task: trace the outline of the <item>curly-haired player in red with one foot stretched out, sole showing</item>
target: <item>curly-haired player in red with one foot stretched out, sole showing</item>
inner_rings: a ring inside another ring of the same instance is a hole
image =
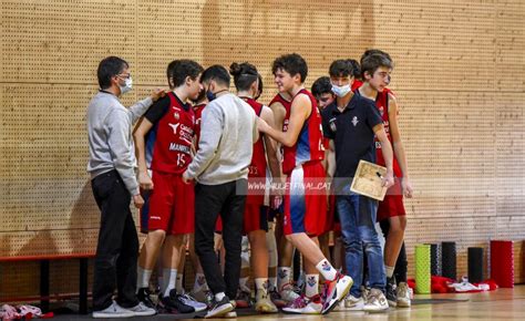
[[[326,173],[321,161],[321,116],[315,97],[305,90],[308,73],[306,61],[299,54],[286,54],[274,61],[272,72],[280,91],[287,91],[294,99],[290,107],[288,131],[274,130],[264,121],[259,130],[285,147],[282,172],[288,175],[285,195],[284,229],[287,239],[302,253],[307,272],[306,294],[302,302],[292,302],[284,311],[294,313],[328,313],[350,290],[352,279],[340,275],[325,258],[315,235],[315,224],[327,209],[325,186],[317,190],[309,182],[325,182]],[[306,184],[305,184],[306,183]],[[315,185],[315,184],[313,184]],[[310,229],[310,231],[309,231]],[[310,238],[312,237],[312,238]],[[325,298],[319,296],[319,275],[327,280]]]

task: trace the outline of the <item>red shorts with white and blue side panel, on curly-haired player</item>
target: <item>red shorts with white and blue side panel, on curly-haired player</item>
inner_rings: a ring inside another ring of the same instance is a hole
[[[319,236],[327,220],[326,172],[320,162],[294,168],[285,193],[285,235],[306,232]]]

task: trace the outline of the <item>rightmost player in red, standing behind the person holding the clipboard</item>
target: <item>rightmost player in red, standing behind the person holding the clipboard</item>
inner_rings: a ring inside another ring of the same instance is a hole
[[[391,307],[410,307],[410,293],[406,286],[406,251],[404,249],[404,230],[406,213],[403,195],[412,197],[412,184],[408,173],[401,133],[398,124],[398,102],[387,87],[393,62],[390,55],[379,50],[369,50],[361,58],[363,84],[359,92],[375,102],[383,120],[384,131],[393,146],[394,186],[390,187],[384,199],[379,203],[378,221],[385,236],[384,266],[387,271],[387,300]],[[377,164],[384,166],[381,144],[377,147]],[[395,275],[394,275],[395,272]],[[397,282],[399,287],[397,288]]]

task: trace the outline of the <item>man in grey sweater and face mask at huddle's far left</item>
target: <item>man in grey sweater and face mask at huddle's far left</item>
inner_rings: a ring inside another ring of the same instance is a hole
[[[93,281],[93,318],[152,315],[155,310],[136,298],[138,237],[130,210],[131,198],[141,208],[144,200],[136,180],[133,124],[164,95],[155,91],[130,108],[119,97],[132,89],[127,62],[109,56],[97,70],[101,90],[87,106],[90,159],[87,172],[96,205],[101,209],[101,227],[96,246]],[[112,300],[117,290],[116,302]]]

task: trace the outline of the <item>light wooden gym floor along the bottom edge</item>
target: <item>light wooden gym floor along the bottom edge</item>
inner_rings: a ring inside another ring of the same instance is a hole
[[[435,299],[432,304],[415,304],[410,309],[390,309],[388,313],[331,312],[327,315],[255,314],[239,317],[243,321],[257,320],[525,320],[525,286],[471,294],[416,296],[416,300]],[[449,299],[449,301],[445,301]],[[469,301],[450,301],[469,300]],[[239,313],[240,314],[240,313]],[[188,315],[189,317],[189,315]],[[183,320],[183,315],[155,315],[130,320]],[[191,317],[189,317],[191,318]],[[90,315],[56,315],[58,320],[93,320]],[[225,320],[225,319],[217,319]]]

